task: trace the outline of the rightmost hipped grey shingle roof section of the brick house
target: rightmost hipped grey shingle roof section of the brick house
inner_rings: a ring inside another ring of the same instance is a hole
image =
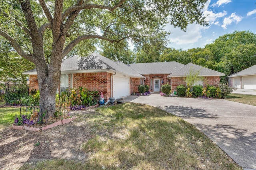
[[[187,65],[180,68],[179,70],[176,70],[169,76],[170,77],[184,77],[184,76],[190,74],[190,70],[192,70],[193,72],[199,71],[200,73],[198,76],[225,76],[224,73],[221,73],[221,72],[218,72],[215,70],[211,70],[209,68],[205,68],[205,67],[202,67],[202,66],[199,66],[196,64],[192,64],[192,63],[188,63]]]

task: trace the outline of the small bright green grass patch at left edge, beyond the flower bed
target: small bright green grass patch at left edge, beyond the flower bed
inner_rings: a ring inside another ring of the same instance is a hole
[[[0,107],[0,131],[14,123],[15,115],[20,114],[20,107]]]

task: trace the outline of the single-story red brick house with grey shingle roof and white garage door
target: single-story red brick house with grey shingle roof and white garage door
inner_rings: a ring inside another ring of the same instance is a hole
[[[196,64],[181,64],[175,61],[160,63],[124,64],[112,61],[97,53],[88,57],[73,56],[62,61],[58,93],[80,86],[103,93],[105,100],[120,98],[138,92],[138,85],[147,84],[150,92],[159,92],[163,84],[170,84],[172,90],[185,84],[190,70],[199,71],[204,77],[201,85],[218,85],[225,74]],[[36,69],[22,74],[29,75],[29,88],[38,89]]]

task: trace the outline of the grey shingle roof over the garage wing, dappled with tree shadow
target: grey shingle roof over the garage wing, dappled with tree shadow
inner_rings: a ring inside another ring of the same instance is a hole
[[[145,78],[138,72],[132,70],[132,68],[130,68],[126,64],[120,61],[118,62],[112,61],[97,53],[92,53],[88,57],[83,57],[83,58],[79,57],[78,55],[69,57],[64,61],[62,61],[61,68],[60,68],[61,71],[65,71],[65,72],[76,71],[76,70],[92,70],[93,72],[93,70],[101,70],[101,69],[117,71],[119,73],[126,74],[130,77]],[[25,74],[36,73],[36,69],[28,70],[24,73]]]

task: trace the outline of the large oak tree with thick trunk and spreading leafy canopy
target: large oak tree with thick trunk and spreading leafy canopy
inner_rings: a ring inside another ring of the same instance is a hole
[[[166,23],[183,30],[194,22],[207,25],[202,16],[206,1],[4,0],[0,2],[0,35],[35,64],[40,106],[54,107],[62,59],[74,48],[80,53],[94,50],[99,40],[129,40],[138,48],[152,40],[166,42]]]

